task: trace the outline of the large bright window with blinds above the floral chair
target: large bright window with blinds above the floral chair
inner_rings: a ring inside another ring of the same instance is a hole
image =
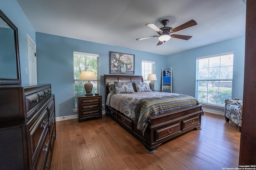
[[[233,52],[196,59],[196,99],[202,104],[224,106],[232,98]]]

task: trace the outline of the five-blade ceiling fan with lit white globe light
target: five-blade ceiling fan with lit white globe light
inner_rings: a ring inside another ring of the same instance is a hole
[[[172,29],[172,27],[166,27],[166,25],[168,23],[169,23],[169,20],[161,21],[161,24],[164,25],[164,27],[162,27],[162,28],[158,28],[154,23],[147,23],[146,25],[148,27],[156,30],[158,35],[153,35],[153,36],[150,36],[150,37],[137,38],[136,40],[148,39],[148,38],[151,38],[151,37],[158,37],[159,42],[157,43],[157,45],[161,45],[162,43],[165,43],[171,37],[179,38],[179,39],[184,39],[184,40],[189,40],[192,36],[178,35],[178,34],[171,34],[171,33],[174,33],[174,32],[180,31],[182,29],[185,29],[185,28],[197,25],[196,21],[190,20],[190,21],[188,21],[188,22],[186,22],[186,23],[184,23],[184,24],[182,24],[182,25]]]

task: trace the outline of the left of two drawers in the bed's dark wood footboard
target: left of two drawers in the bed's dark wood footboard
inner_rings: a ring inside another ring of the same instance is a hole
[[[156,141],[180,131],[180,123],[156,130]]]

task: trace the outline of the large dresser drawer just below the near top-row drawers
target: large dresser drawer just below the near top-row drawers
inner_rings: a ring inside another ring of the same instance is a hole
[[[39,119],[30,127],[30,143],[31,143],[31,152],[32,160],[34,161],[37,150],[39,149],[40,140],[43,138],[44,131],[48,129],[48,111],[44,110]]]

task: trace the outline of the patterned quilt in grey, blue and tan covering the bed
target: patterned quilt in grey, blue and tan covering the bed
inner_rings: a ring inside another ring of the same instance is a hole
[[[166,111],[194,106],[199,102],[192,96],[165,92],[135,92],[108,94],[106,105],[124,113],[137,123],[137,129],[144,134],[148,116]]]

